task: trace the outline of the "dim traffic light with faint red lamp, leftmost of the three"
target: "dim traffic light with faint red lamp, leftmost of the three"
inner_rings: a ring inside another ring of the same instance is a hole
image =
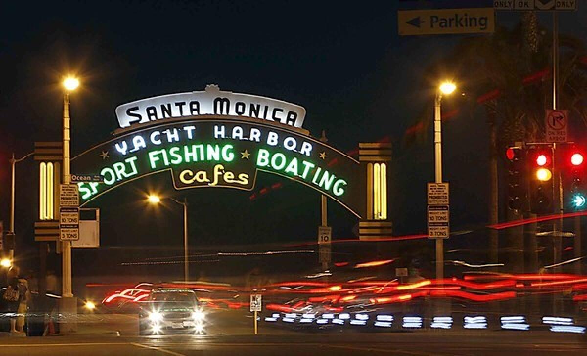
[[[508,208],[522,212],[528,208],[525,153],[522,147],[508,147],[505,151],[505,157],[507,158]]]

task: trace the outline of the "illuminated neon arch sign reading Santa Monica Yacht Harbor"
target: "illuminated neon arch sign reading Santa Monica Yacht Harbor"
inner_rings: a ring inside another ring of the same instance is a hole
[[[76,173],[104,178],[79,183],[82,205],[158,172],[170,172],[176,189],[250,191],[261,171],[300,182],[365,216],[363,167],[309,136],[301,128],[300,106],[208,86],[123,104],[117,116],[121,128],[112,139],[72,160]]]

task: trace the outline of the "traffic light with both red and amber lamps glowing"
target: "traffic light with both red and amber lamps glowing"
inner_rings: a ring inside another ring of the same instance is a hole
[[[535,214],[553,212],[553,153],[552,147],[535,146],[527,151],[530,211]]]

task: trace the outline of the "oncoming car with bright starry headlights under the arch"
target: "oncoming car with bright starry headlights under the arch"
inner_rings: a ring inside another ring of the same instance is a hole
[[[139,334],[205,334],[205,313],[191,289],[155,288],[139,311]]]

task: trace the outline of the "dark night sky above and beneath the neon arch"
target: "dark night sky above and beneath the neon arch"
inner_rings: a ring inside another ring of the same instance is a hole
[[[387,3],[387,4],[384,4]],[[61,140],[62,75],[75,73],[72,154],[111,137],[116,106],[167,93],[221,90],[274,97],[307,110],[304,127],[350,151],[389,137],[390,215],[396,235],[425,229],[426,182],[433,180],[431,135],[402,145],[402,136],[433,105],[436,78],[423,69],[463,36],[397,35],[399,8],[467,7],[474,1],[51,1],[0,5],[0,219],[9,219],[8,158],[34,141]],[[478,1],[491,6],[491,1]],[[579,4],[582,5],[582,4]],[[587,6],[562,15],[561,32],[585,38]],[[519,13],[497,14],[511,26]],[[549,25],[548,15],[539,19]],[[568,19],[568,20],[567,20]],[[474,73],[471,73],[474,75]],[[466,84],[466,79],[456,79]],[[456,105],[447,103],[447,105]],[[481,111],[444,128],[444,176],[451,183],[454,229],[487,221],[487,125]],[[17,165],[16,232],[33,240],[36,187],[32,160]],[[75,172],[75,165],[72,171]],[[261,199],[234,189],[176,192],[168,174],[141,179],[96,199],[103,246],[181,246],[181,207],[153,209],[147,191],[190,202],[193,244],[248,245],[312,241],[319,194],[273,175],[257,189],[285,187]],[[336,238],[353,238],[356,219],[329,204]]]

